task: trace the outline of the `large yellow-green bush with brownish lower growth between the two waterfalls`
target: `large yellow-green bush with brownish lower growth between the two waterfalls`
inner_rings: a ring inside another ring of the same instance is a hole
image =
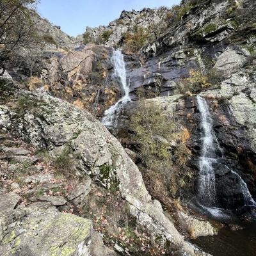
[[[184,175],[182,170],[191,155],[186,147],[188,130],[178,132],[177,125],[155,104],[140,103],[129,122],[131,139],[138,143],[138,163],[146,184],[157,195],[176,196],[179,177]],[[177,141],[175,150],[170,141]]]

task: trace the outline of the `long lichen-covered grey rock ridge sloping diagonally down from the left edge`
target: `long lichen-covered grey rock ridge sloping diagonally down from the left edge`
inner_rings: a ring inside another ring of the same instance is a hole
[[[68,172],[90,175],[106,188],[118,186],[129,203],[131,214],[152,236],[169,241],[179,255],[201,255],[184,241],[173,223],[164,216],[161,204],[151,199],[141,173],[124,148],[90,113],[53,98],[47,92],[22,91],[12,81],[1,81],[1,95],[1,129],[15,132],[36,148],[50,150],[52,157],[60,156],[68,148],[68,156],[74,159],[74,166],[70,166]],[[86,239],[83,237],[82,240]],[[15,242],[9,239],[7,243]],[[25,243],[20,248],[22,253],[26,248],[23,246]],[[65,248],[61,252],[63,250]]]

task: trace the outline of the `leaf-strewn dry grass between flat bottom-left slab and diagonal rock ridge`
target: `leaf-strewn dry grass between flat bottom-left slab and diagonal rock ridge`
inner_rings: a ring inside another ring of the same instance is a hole
[[[81,215],[93,221],[93,228],[104,235],[104,244],[118,244],[131,255],[163,254],[163,246],[153,243],[147,230],[140,227],[119,191],[109,193],[94,186],[85,200]]]

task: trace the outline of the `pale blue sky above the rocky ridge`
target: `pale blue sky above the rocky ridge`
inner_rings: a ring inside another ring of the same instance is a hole
[[[40,0],[39,14],[68,35],[84,33],[86,26],[108,25],[122,10],[172,6],[180,0]]]

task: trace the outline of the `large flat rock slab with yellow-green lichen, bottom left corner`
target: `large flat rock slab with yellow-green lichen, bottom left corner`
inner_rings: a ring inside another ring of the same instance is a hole
[[[10,206],[6,202],[10,202]],[[13,209],[17,197],[0,198],[0,252],[3,256],[89,256],[92,222],[54,207]],[[8,214],[5,208],[13,209]]]

